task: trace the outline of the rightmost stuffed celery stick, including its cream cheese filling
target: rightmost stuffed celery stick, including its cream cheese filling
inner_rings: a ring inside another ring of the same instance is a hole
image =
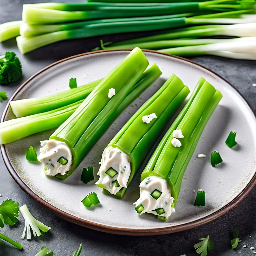
[[[201,78],[141,175],[140,198],[134,203],[166,221],[177,203],[182,179],[202,131],[217,107],[221,93]]]

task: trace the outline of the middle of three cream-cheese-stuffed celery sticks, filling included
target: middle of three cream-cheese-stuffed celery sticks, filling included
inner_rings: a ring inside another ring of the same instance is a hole
[[[146,154],[188,93],[188,87],[172,74],[105,148],[97,186],[119,199],[124,196]]]

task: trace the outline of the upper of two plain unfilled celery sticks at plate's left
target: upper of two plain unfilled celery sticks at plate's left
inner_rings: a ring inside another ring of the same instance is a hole
[[[34,115],[54,110],[85,99],[101,81],[102,79],[99,79],[77,88],[40,98],[10,101],[10,106],[16,117]]]

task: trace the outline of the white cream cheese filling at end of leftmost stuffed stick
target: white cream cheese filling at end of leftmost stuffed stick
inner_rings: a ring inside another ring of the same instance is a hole
[[[46,175],[55,176],[58,173],[60,173],[60,175],[64,175],[65,172],[71,169],[73,162],[72,153],[65,142],[57,141],[55,139],[40,142],[42,148],[40,148],[40,155],[37,159],[47,168],[44,170]],[[57,162],[60,157],[64,157],[68,160],[66,165]]]

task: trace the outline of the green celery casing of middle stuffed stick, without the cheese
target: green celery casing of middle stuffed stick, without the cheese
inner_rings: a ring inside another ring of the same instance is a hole
[[[188,93],[188,87],[184,86],[183,82],[172,74],[164,85],[138,109],[106,147],[118,147],[131,158],[131,174],[127,186]],[[148,124],[144,123],[142,117],[151,113],[155,113],[157,118]],[[102,187],[102,184],[97,183],[97,185]],[[103,191],[109,193],[106,189]],[[126,188],[123,187],[115,196],[121,199],[125,191]]]

